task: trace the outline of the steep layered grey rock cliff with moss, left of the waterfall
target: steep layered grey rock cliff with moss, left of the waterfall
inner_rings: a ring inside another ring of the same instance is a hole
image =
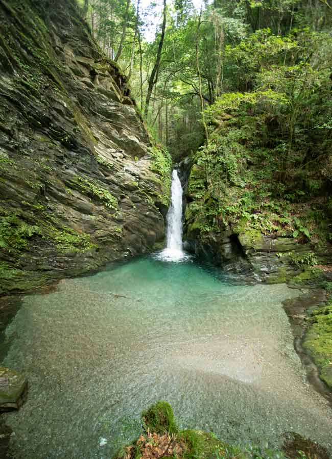
[[[0,0],[0,294],[163,238],[170,160],[74,0]]]

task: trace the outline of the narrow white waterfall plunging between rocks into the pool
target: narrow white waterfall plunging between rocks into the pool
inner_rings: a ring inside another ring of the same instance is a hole
[[[172,173],[172,200],[167,219],[167,248],[160,253],[164,260],[176,261],[185,258],[182,249],[182,186],[178,171]]]

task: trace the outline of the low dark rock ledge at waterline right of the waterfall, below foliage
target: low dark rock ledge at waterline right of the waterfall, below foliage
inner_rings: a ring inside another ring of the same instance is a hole
[[[305,272],[292,264],[290,253],[305,254],[312,251],[310,244],[298,244],[288,237],[265,236],[252,230],[233,234],[232,230],[207,233],[204,238],[189,235],[184,248],[203,260],[222,266],[226,271],[247,276],[248,280],[281,284],[316,286],[332,279],[329,272],[306,267]],[[318,260],[327,263],[332,257],[332,248],[325,246],[315,252]]]

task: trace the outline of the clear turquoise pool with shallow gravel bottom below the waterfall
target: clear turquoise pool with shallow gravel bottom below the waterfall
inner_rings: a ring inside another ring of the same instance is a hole
[[[4,364],[30,383],[5,419],[14,457],[110,457],[158,399],[183,427],[226,441],[276,445],[294,430],[331,452],[332,411],[306,382],[281,307],[294,296],[153,257],[26,296],[6,330]]]

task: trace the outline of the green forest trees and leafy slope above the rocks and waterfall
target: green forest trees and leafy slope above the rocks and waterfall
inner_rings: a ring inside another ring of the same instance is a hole
[[[235,224],[237,231],[330,240],[332,3],[143,6],[82,4],[94,37],[127,75],[150,132],[175,162],[190,155],[196,163],[189,228]]]

